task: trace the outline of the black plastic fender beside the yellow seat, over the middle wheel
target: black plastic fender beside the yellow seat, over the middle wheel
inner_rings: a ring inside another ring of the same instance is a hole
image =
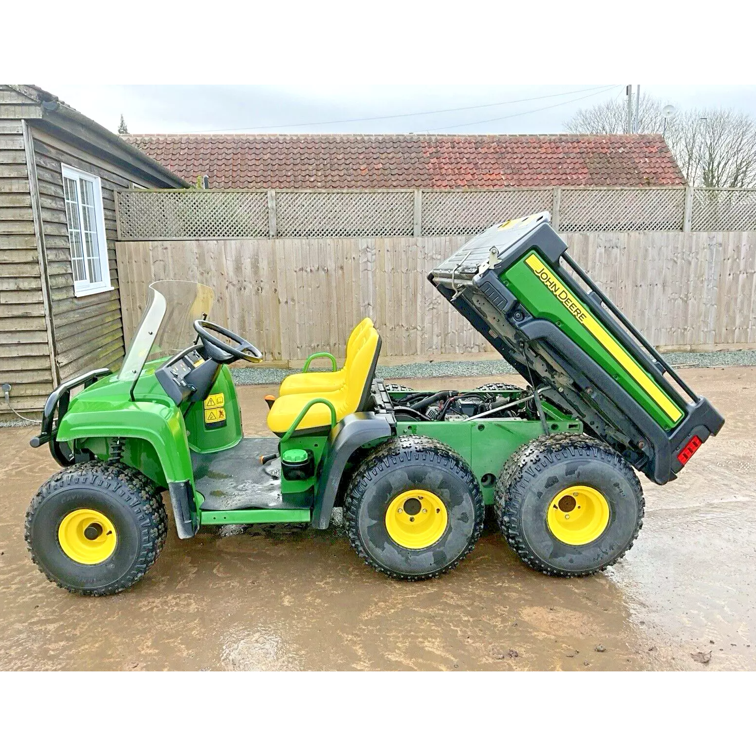
[[[373,412],[355,412],[333,427],[328,438],[329,451],[321,468],[318,493],[315,495],[311,527],[318,530],[328,527],[349,457],[361,446],[393,435],[390,417]]]

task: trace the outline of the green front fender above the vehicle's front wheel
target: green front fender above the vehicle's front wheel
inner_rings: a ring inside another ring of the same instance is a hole
[[[60,421],[57,440],[79,440],[95,453],[107,452],[107,449],[96,448],[95,439],[98,438],[141,439],[147,442],[147,448],[144,444],[130,444],[125,450],[124,461],[132,463],[160,485],[190,481],[194,487],[184,418],[175,404],[88,401],[82,392],[72,401],[71,410]],[[151,460],[154,456],[156,460]],[[151,461],[154,463],[151,464]]]

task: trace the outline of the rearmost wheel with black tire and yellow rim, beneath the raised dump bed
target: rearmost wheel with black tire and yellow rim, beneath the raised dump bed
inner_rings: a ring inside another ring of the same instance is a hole
[[[522,445],[494,493],[499,528],[519,558],[564,578],[620,559],[643,526],[644,507],[634,469],[614,449],[569,433]]]

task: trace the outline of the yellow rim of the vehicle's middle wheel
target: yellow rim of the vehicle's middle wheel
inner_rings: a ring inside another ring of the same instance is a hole
[[[449,521],[444,502],[430,491],[404,491],[386,510],[386,530],[405,549],[426,549],[442,537]]]

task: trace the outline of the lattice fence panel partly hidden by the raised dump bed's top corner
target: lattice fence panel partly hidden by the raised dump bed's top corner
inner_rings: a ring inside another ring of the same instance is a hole
[[[423,191],[422,235],[478,234],[497,221],[551,210],[551,189]]]

